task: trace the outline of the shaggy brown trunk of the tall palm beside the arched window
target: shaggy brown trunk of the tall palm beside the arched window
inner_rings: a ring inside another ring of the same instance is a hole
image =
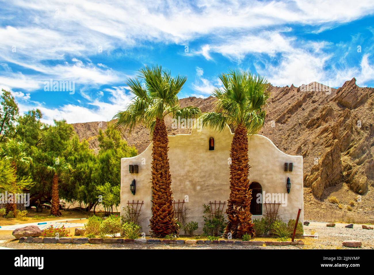
[[[224,236],[231,232],[232,238],[254,235],[250,205],[252,190],[249,190],[249,158],[247,129],[239,124],[231,143],[230,197],[227,201],[227,224]]]

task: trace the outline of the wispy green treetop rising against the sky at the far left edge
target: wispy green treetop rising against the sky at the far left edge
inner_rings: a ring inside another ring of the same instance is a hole
[[[1,109],[0,109],[0,142],[7,137],[11,137],[14,132],[14,123],[18,116],[18,105],[14,97],[8,91],[1,89]]]

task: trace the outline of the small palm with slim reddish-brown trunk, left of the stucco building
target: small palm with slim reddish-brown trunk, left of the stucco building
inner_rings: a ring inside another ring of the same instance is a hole
[[[52,180],[52,204],[50,214],[53,216],[61,216],[60,199],[58,197],[58,178],[65,172],[72,171],[70,163],[65,161],[64,157],[52,158],[53,165],[47,165],[45,168],[47,172],[53,175]]]

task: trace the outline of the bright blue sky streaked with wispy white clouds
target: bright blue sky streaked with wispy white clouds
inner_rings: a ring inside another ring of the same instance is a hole
[[[186,75],[180,98],[208,97],[230,68],[276,86],[374,87],[373,48],[373,0],[0,0],[0,88],[47,123],[110,120],[145,64]],[[45,91],[50,79],[74,94]]]

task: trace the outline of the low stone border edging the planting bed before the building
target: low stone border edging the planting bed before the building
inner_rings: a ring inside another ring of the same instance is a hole
[[[231,241],[231,240],[171,240],[171,239],[122,239],[122,238],[41,238],[41,237],[21,237],[21,243],[34,244],[183,244],[183,245],[201,245],[201,244],[241,244],[254,246],[283,246],[283,245],[304,245],[299,240],[295,242],[286,241]]]

